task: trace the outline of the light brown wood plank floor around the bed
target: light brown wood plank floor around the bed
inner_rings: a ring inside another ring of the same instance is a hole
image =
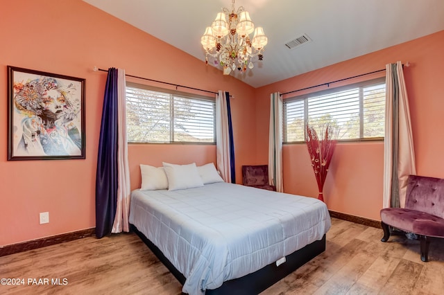
[[[429,262],[422,262],[418,240],[392,236],[383,243],[382,235],[382,229],[332,218],[325,252],[262,294],[444,294],[444,239],[432,240]],[[0,257],[0,278],[24,279],[24,285],[0,285],[0,294],[181,293],[135,233]],[[48,285],[32,285],[45,284],[44,278]]]

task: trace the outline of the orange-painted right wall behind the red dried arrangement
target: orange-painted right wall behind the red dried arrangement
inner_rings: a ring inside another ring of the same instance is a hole
[[[409,67],[404,67],[404,76],[409,94],[417,173],[444,177],[444,157],[441,156],[444,136],[440,127],[444,124],[443,48],[444,31],[441,31],[256,89],[258,161],[266,161],[268,157],[268,136],[263,130],[268,128],[264,118],[268,117],[270,109],[270,93],[285,93],[385,69],[386,64],[401,60],[403,63],[410,62]],[[331,84],[330,88],[342,84]],[[284,145],[283,156],[284,190],[317,197],[316,181],[305,144]],[[333,211],[380,220],[383,167],[383,142],[339,143],[325,184],[327,206]]]

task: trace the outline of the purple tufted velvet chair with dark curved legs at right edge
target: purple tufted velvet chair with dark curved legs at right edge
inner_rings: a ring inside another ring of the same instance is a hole
[[[444,179],[410,175],[407,183],[405,208],[381,210],[382,229],[387,242],[393,226],[420,238],[420,257],[428,260],[432,237],[444,238]]]

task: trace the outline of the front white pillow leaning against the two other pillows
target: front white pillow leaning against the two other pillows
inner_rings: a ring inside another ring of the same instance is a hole
[[[168,190],[183,190],[203,186],[196,163],[175,165],[163,162],[163,164],[168,178]]]

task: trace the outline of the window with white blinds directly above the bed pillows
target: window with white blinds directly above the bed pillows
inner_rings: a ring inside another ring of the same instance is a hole
[[[131,143],[215,143],[215,102],[144,85],[126,85],[126,129]]]

